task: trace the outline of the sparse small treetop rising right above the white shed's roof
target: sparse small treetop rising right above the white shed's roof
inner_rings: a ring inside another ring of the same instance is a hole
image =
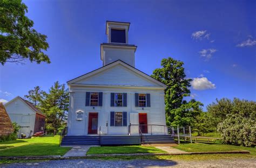
[[[29,90],[29,94],[25,95],[25,99],[32,102],[35,106],[38,105],[38,103],[42,102],[43,95],[45,95],[45,92],[41,90],[39,86],[34,87],[34,89]]]

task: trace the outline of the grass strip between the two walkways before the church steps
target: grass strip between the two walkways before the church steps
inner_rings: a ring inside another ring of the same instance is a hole
[[[112,153],[166,153],[151,146],[102,146],[92,147],[87,155],[112,154]]]

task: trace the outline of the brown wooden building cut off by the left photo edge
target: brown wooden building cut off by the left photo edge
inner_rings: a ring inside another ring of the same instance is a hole
[[[3,103],[0,103],[0,136],[9,135],[14,132],[12,123]]]

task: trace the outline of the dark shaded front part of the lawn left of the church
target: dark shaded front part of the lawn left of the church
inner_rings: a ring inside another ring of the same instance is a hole
[[[33,143],[2,150],[0,156],[62,156],[70,149],[69,147],[59,147],[58,144],[54,143]]]

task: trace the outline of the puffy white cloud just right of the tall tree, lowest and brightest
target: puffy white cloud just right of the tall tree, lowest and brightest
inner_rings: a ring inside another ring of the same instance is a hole
[[[206,90],[206,89],[215,89],[215,84],[211,81],[208,81],[206,77],[194,78],[191,81],[191,86],[195,90]]]

